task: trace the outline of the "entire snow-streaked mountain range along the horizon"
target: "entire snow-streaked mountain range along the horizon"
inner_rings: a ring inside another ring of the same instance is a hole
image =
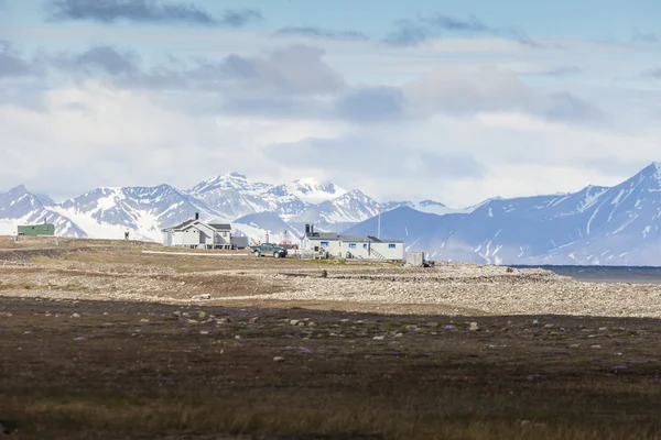
[[[615,187],[553,196],[495,198],[452,209],[438,201],[378,204],[358,189],[304,178],[270,185],[227,173],[188,190],[169,185],[97,188],[63,202],[24,186],[0,193],[0,233],[48,221],[61,235],[161,241],[161,229],[192,218],[231,222],[263,240],[317,230],[402,239],[436,261],[486,264],[661,265],[661,164]],[[275,235],[275,237],[273,237]]]

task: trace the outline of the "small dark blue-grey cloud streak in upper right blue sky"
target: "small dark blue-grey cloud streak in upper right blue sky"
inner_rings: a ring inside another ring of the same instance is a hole
[[[440,13],[419,16],[415,20],[398,20],[384,42],[392,45],[414,46],[436,35],[438,32],[463,34],[486,34],[517,41],[523,45],[538,47],[539,43],[530,38],[525,32],[517,28],[496,28],[485,24],[475,15],[468,20],[458,20]]]

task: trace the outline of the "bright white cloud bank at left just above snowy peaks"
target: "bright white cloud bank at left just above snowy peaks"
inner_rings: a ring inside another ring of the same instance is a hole
[[[316,121],[193,114],[160,105],[148,91],[98,82],[55,89],[45,111],[0,106],[3,143],[0,187],[24,183],[62,198],[97,186],[193,186],[209,176],[245,170],[278,179],[262,150],[280,142],[342,133]]]

